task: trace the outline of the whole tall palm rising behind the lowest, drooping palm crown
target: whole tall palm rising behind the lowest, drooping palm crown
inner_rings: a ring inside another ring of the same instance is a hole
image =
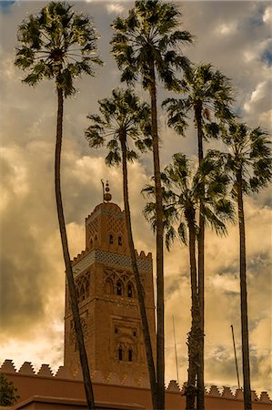
[[[197,131],[198,164],[204,159],[203,142],[208,138],[218,138],[221,122],[232,118],[229,106],[232,102],[232,88],[227,77],[210,64],[200,64],[186,70],[180,87],[184,97],[167,98],[163,106],[167,108],[168,125],[185,136],[188,116],[192,112]],[[205,190],[205,187],[203,187]],[[198,297],[201,315],[202,338],[197,371],[197,409],[204,410],[204,280],[205,280],[205,224],[203,206],[199,212],[198,235]]]

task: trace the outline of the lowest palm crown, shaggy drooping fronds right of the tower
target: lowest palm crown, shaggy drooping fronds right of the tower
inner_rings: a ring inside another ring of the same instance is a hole
[[[227,200],[228,177],[215,164],[205,159],[193,175],[190,161],[186,155],[177,153],[173,162],[162,172],[164,195],[164,226],[166,247],[170,248],[176,235],[186,243],[186,225],[193,222],[197,231],[196,211],[199,211],[200,200],[204,201],[204,217],[206,222],[217,233],[226,234],[225,222],[234,219],[234,209]],[[203,182],[205,192],[203,194]],[[144,194],[154,197],[153,186],[147,186]],[[146,204],[145,215],[156,229],[155,204]],[[177,224],[177,228],[176,228]]]

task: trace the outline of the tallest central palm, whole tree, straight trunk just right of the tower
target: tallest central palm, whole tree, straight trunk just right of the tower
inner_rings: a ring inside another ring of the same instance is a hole
[[[180,45],[191,43],[187,31],[177,30],[179,16],[176,5],[158,0],[138,0],[129,10],[127,18],[117,17],[112,27],[115,35],[111,41],[117,66],[123,70],[121,81],[135,84],[141,77],[143,87],[151,101],[151,135],[156,185],[156,409],[165,408],[165,345],[164,345],[164,255],[163,206],[160,182],[159,144],[157,131],[157,81],[167,89],[179,85],[176,70],[189,67],[189,62],[179,51]]]

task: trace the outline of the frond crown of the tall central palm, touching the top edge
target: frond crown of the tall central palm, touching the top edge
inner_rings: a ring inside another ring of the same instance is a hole
[[[117,17],[111,44],[122,81],[133,83],[138,74],[143,87],[150,86],[153,65],[168,89],[178,87],[175,69],[187,69],[189,61],[180,52],[181,44],[192,42],[187,31],[176,30],[180,13],[176,5],[157,0],[136,1],[127,18]]]

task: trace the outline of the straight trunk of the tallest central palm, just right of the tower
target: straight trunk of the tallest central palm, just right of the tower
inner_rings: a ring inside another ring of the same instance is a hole
[[[163,194],[160,179],[157,135],[156,76],[154,62],[150,66],[151,134],[156,191],[156,383],[157,410],[165,409],[165,285],[164,285],[164,226]]]

